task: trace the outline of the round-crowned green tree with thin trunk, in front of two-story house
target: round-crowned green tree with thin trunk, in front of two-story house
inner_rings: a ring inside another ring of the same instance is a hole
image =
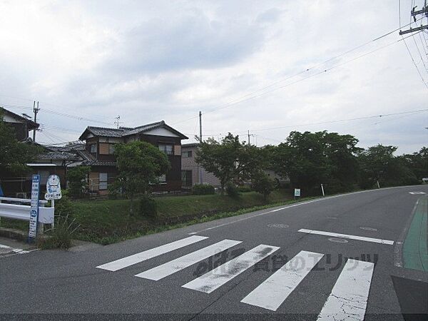
[[[151,184],[158,183],[159,176],[168,172],[170,163],[165,153],[143,141],[117,144],[114,155],[118,167],[114,185],[131,200],[132,214],[136,194],[148,193]]]

